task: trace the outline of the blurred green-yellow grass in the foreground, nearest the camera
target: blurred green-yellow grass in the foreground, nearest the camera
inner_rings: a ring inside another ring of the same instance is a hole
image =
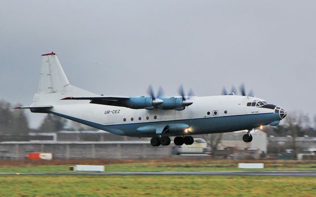
[[[1,197],[315,197],[313,177],[0,176]]]

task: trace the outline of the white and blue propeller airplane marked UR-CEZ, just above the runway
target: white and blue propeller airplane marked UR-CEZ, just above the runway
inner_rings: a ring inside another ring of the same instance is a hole
[[[191,145],[192,135],[248,130],[244,142],[251,142],[250,131],[261,126],[276,126],[287,112],[252,93],[235,95],[236,90],[220,96],[165,97],[160,89],[155,96],[104,96],[71,85],[55,53],[41,55],[40,87],[32,104],[17,109],[50,113],[117,135],[151,137],[152,146]]]

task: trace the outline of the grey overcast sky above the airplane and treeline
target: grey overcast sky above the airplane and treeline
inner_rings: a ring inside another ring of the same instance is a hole
[[[0,99],[29,105],[53,51],[72,85],[98,94],[183,84],[211,96],[244,83],[313,116],[315,36],[315,0],[1,1]],[[28,116],[37,127],[42,115]]]

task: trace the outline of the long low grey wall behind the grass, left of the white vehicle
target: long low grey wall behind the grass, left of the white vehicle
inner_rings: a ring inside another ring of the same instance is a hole
[[[55,159],[156,159],[169,157],[171,146],[149,142],[1,142],[0,160],[22,160],[29,153],[53,153]]]

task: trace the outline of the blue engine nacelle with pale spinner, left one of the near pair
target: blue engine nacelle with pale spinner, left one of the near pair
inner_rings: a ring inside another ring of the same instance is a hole
[[[163,100],[153,99],[152,97],[131,97],[123,102],[126,107],[132,109],[153,109],[163,103]]]

